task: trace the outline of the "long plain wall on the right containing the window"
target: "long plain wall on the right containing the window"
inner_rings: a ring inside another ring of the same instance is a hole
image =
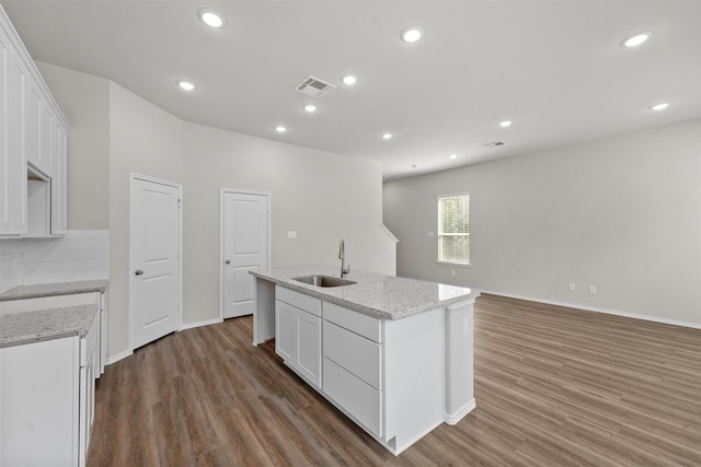
[[[472,265],[440,266],[436,197],[461,191]],[[400,276],[701,326],[701,120],[390,182],[384,223]]]

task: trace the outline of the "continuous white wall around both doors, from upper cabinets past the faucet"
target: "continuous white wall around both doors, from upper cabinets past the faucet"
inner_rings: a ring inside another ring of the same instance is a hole
[[[273,266],[336,264],[344,237],[353,268],[394,273],[378,166],[184,122],[107,80],[41,68],[71,124],[69,227],[110,231],[108,358],[129,350],[130,173],[183,185],[184,325],[219,318],[220,187],[272,192]]]

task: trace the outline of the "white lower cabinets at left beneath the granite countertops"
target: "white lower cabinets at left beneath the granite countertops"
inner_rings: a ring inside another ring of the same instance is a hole
[[[62,302],[95,305],[83,337],[65,337],[0,349],[0,466],[84,466],[101,372],[99,294]],[[61,303],[41,299],[3,302],[0,312]],[[60,308],[59,308],[60,310]],[[68,310],[68,308],[66,308]]]

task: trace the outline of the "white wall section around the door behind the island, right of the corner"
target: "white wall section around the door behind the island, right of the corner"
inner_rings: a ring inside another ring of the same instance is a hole
[[[186,322],[219,316],[221,187],[272,194],[274,267],[340,265],[344,238],[353,268],[394,273],[394,245],[380,230],[379,166],[194,124],[185,124],[184,144]]]

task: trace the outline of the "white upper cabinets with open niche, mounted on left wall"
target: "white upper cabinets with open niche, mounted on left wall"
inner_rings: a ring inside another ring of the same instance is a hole
[[[67,149],[68,121],[0,5],[0,238],[68,231]]]

